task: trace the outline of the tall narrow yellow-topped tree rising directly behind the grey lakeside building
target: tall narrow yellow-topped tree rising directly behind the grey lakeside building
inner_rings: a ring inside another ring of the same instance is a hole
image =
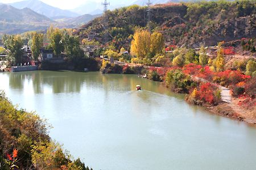
[[[51,46],[54,50],[54,54],[56,56],[60,56],[61,50],[63,50],[63,43],[62,43],[62,36],[63,34],[60,32],[59,28],[56,28],[52,33],[50,37]]]

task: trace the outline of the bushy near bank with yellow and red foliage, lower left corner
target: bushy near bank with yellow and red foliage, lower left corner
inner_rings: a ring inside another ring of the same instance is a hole
[[[45,118],[18,109],[2,90],[0,112],[1,169],[89,169],[49,137],[51,125]]]

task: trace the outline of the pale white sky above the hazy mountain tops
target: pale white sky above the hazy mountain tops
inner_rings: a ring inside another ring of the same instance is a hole
[[[19,2],[19,1],[22,1],[22,0],[0,0],[0,2],[2,3],[13,3],[13,2]],[[40,1],[51,6],[61,8],[63,10],[68,10],[68,9],[76,8],[81,4],[84,4],[86,0],[72,0],[72,1],[40,0]],[[90,1],[104,2],[104,0],[90,0]]]

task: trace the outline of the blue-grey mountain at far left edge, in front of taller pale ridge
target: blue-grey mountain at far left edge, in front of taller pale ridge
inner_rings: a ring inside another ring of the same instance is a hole
[[[10,5],[0,5],[0,20],[3,22],[55,22],[42,14],[38,14],[30,8],[17,9]]]

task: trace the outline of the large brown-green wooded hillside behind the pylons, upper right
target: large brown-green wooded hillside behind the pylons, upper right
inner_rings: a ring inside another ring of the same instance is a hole
[[[196,1],[166,3],[151,6],[152,30],[161,32],[166,46],[199,48],[217,45],[220,41],[236,41],[255,36],[255,3],[242,0]],[[145,27],[147,7],[137,5],[108,11],[109,41],[129,43],[136,27]],[[104,18],[96,18],[75,32],[80,39],[95,30],[97,41],[102,42]]]

